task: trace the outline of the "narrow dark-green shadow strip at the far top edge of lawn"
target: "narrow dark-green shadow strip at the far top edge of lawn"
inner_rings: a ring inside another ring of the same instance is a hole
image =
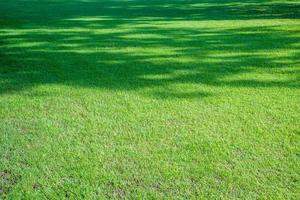
[[[15,0],[3,1],[0,5],[2,17],[12,17],[15,12],[28,24],[39,26],[90,16],[114,20],[142,17],[152,20],[299,19],[300,16],[300,4],[296,0],[285,3],[270,0]]]

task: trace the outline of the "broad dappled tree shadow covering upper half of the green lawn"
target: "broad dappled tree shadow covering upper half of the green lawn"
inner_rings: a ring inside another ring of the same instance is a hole
[[[18,2],[25,5],[21,15],[38,6],[41,12],[49,3],[42,1],[31,8],[31,1]],[[107,90],[156,88],[150,95],[160,98],[210,95],[170,91],[171,86],[184,84],[299,88],[297,30],[287,31],[280,23],[230,27],[226,21],[213,25],[201,21],[298,18],[294,9],[299,4],[279,9],[280,4],[266,2],[221,2],[54,1],[48,9],[64,5],[66,10],[48,12],[44,20],[49,24],[43,24],[36,13],[26,15],[25,21],[32,18],[31,22],[17,23],[14,28],[8,24],[1,30],[0,93],[43,84]],[[251,9],[246,5],[267,11],[247,14]]]

